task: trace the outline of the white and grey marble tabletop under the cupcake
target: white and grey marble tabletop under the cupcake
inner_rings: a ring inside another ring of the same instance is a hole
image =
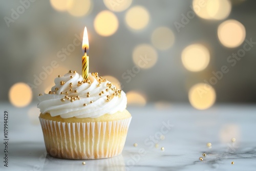
[[[217,104],[205,111],[189,104],[129,107],[133,119],[122,154],[86,161],[47,155],[35,106],[0,104],[0,170],[256,170],[256,105]],[[5,110],[8,167],[3,163]]]

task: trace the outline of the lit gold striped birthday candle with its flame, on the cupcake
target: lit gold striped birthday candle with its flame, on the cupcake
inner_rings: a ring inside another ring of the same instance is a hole
[[[89,56],[87,56],[87,52],[89,51],[89,41],[86,27],[84,27],[83,31],[82,50],[84,51],[84,55],[82,56],[82,77],[83,79],[86,79],[89,73]]]

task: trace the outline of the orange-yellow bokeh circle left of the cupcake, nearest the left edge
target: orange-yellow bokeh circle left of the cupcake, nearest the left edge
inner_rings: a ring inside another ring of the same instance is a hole
[[[24,107],[32,100],[32,90],[28,84],[17,82],[9,90],[9,100],[16,107]]]

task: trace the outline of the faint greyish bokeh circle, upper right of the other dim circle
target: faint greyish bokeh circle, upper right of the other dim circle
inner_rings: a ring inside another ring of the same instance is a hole
[[[152,44],[160,50],[166,50],[174,44],[175,36],[172,30],[167,27],[155,29],[151,36]]]

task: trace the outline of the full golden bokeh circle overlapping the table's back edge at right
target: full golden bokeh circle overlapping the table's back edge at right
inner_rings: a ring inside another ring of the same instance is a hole
[[[190,104],[198,109],[205,110],[215,103],[216,93],[214,88],[206,83],[198,83],[191,87],[188,92]]]

